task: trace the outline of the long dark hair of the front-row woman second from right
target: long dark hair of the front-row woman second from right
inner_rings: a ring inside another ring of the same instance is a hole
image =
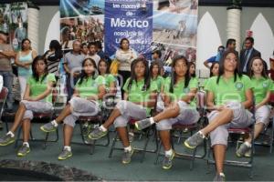
[[[186,74],[184,76],[184,88],[186,88],[189,84],[189,81],[191,79],[191,77],[189,76],[189,68],[188,68],[188,61],[187,59],[185,58],[185,56],[174,56],[174,59],[173,59],[173,63],[172,63],[172,67],[174,68],[175,64],[177,63],[177,61],[183,59],[186,66],[187,66],[187,71],[186,71]],[[172,73],[171,73],[171,82],[170,82],[170,87],[169,87],[169,92],[170,93],[174,93],[174,85],[176,84],[177,82],[177,76],[176,76],[176,73],[174,71],[174,69],[172,69]]]

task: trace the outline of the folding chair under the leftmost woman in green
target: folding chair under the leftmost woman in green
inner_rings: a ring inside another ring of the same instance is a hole
[[[53,109],[48,112],[48,113],[34,113],[34,118],[33,119],[39,119],[41,120],[42,118],[47,118],[47,120],[51,121],[53,120],[53,118],[55,117],[55,104],[56,104],[56,101],[57,101],[57,96],[58,96],[58,91],[54,88],[52,89],[52,104],[53,104]],[[15,144],[15,148],[18,146],[18,142],[21,140],[23,140],[22,138],[20,138],[21,136],[21,133],[22,133],[22,126],[19,126],[18,128],[18,131],[17,131],[17,136],[16,136],[16,144]],[[59,135],[58,135],[58,128],[56,130],[56,138],[53,139],[53,140],[48,140],[48,136],[49,136],[49,133],[46,133],[45,135],[45,138],[35,138],[32,134],[32,130],[30,129],[29,131],[29,135],[30,135],[30,141],[38,141],[38,142],[43,142],[43,149],[46,149],[47,148],[47,142],[58,142],[58,138],[59,138]]]

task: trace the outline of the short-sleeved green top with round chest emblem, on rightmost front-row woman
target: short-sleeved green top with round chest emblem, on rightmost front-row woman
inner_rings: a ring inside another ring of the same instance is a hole
[[[214,103],[216,106],[226,105],[229,101],[244,102],[247,100],[246,91],[252,88],[251,81],[248,76],[237,76],[234,82],[234,76],[228,80],[224,80],[220,76],[219,83],[216,84],[217,76],[209,78],[205,90],[213,92]]]

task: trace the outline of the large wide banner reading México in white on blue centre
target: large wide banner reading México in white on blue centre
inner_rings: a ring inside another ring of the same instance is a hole
[[[166,66],[176,55],[195,62],[197,8],[198,0],[61,0],[61,43],[101,41],[113,56],[126,37],[148,60],[161,50]]]

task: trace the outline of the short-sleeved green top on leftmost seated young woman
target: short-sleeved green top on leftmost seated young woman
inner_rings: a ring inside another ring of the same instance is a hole
[[[27,85],[29,86],[30,96],[39,96],[47,90],[47,84],[49,82],[56,82],[54,74],[48,74],[42,81],[42,77],[39,77],[37,81],[33,76],[29,76],[27,79]],[[46,96],[43,101],[52,103],[52,93]]]

